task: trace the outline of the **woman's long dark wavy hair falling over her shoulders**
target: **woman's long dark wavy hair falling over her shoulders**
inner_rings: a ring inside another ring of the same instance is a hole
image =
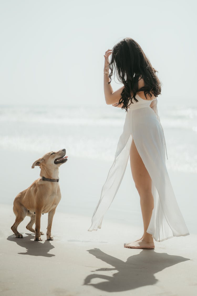
[[[132,98],[136,99],[136,94],[139,91],[144,91],[144,95],[149,94],[152,97],[151,91],[155,97],[161,94],[161,82],[156,75],[155,70],[139,44],[132,38],[124,38],[113,46],[111,61],[109,64],[109,78],[116,72],[118,81],[124,84],[124,89],[121,93],[119,104],[123,103],[122,109],[127,111],[130,104],[133,104]],[[142,76],[144,86],[138,89],[138,80]],[[147,97],[146,97],[147,99]]]

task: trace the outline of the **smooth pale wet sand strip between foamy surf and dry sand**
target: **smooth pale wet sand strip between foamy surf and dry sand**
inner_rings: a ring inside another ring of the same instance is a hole
[[[12,205],[16,195],[39,178],[40,168],[31,169],[31,165],[36,158],[42,156],[42,153],[21,151],[12,151],[12,153],[3,151],[2,153],[4,157],[1,164],[4,174],[2,174],[1,181],[4,185],[0,188],[0,203]],[[11,161],[7,161],[10,155],[12,155]],[[111,161],[69,157],[68,162],[63,164],[59,170],[62,198],[56,212],[88,217],[90,226],[111,165]],[[195,227],[197,224],[195,213],[197,201],[193,190],[196,174],[171,170],[168,170],[168,173],[189,232],[197,234]],[[143,227],[139,194],[131,176],[129,163],[121,186],[106,212],[103,222],[105,220],[131,227]]]

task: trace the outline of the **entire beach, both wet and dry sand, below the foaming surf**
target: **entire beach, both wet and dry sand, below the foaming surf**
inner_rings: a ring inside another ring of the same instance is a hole
[[[7,162],[10,155],[12,162]],[[0,295],[196,295],[196,217],[188,204],[188,198],[195,200],[191,190],[195,174],[169,172],[191,234],[155,242],[154,250],[131,250],[123,244],[141,237],[143,224],[129,167],[102,228],[89,232],[111,162],[71,157],[60,168],[62,200],[53,220],[54,240],[46,241],[44,214],[43,242],[34,242],[34,235],[25,228],[29,217],[18,228],[23,239],[15,238],[10,227],[15,219],[14,197],[39,176],[38,167],[31,169],[37,156],[4,151]],[[184,186],[180,188],[180,184]],[[190,196],[186,198],[187,192]]]

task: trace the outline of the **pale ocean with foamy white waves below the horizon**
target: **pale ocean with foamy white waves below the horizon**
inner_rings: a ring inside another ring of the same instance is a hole
[[[197,173],[197,107],[162,106],[167,169]],[[114,160],[126,113],[121,108],[1,106],[0,147],[45,154],[66,148],[66,155]]]

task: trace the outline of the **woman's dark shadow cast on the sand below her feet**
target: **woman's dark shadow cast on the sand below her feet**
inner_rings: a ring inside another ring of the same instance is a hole
[[[114,268],[104,267],[95,270],[111,271],[111,275],[96,274],[93,271],[94,273],[88,275],[84,280],[84,285],[91,285],[106,292],[127,291],[142,286],[153,285],[158,281],[154,276],[155,273],[166,267],[190,260],[181,256],[168,255],[167,253],[156,253],[153,250],[142,250],[139,254],[128,257],[127,261],[124,262],[97,248],[88,250],[88,252],[96,258],[114,266]],[[97,282],[98,279],[105,281],[91,284],[90,281],[92,279],[97,279]]]

